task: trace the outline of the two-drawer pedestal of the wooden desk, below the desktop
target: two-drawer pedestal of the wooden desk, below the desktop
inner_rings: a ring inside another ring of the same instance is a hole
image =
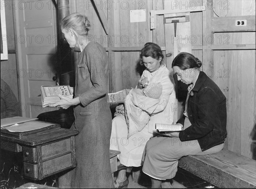
[[[24,175],[41,180],[76,166],[74,136],[39,146],[23,146]]]

